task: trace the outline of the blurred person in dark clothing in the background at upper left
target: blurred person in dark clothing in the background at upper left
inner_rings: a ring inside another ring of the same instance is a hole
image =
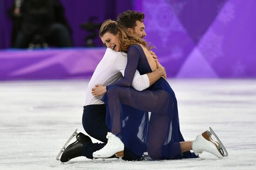
[[[16,26],[14,48],[27,48],[34,43],[72,46],[71,29],[60,0],[14,0],[9,15]]]

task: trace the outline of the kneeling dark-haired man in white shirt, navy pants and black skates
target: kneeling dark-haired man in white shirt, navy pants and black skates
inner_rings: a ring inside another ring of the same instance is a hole
[[[136,36],[143,38],[146,36],[143,19],[143,13],[128,10],[119,14],[117,22],[125,26],[128,31],[133,32]],[[155,54],[152,54],[156,58]],[[88,136],[80,132],[76,136],[77,141],[67,146],[67,149],[63,152],[61,162],[67,162],[68,160],[79,156],[85,156],[92,159],[93,152],[100,150],[108,142],[106,136],[109,129],[105,123],[106,107],[101,101],[102,96],[94,97],[91,90],[96,84],[107,86],[119,80],[121,76],[124,75],[126,64],[127,54],[123,52],[115,52],[108,48],[88,84],[86,103],[82,117],[83,127],[91,137],[104,143],[92,143]],[[165,70],[162,66],[154,72],[145,75],[140,75],[136,70],[132,86],[136,90],[142,91],[152,85],[164,74]],[[125,160],[139,160],[140,158],[141,157],[136,156],[128,149],[124,150],[123,159]]]

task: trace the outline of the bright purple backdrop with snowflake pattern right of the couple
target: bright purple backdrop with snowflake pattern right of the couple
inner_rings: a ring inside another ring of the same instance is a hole
[[[256,0],[135,0],[171,77],[256,77]]]

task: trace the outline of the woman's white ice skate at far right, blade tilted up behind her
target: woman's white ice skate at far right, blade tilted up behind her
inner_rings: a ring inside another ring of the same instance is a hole
[[[228,156],[228,152],[220,139],[217,137],[215,132],[212,130],[211,127],[210,131],[205,131],[202,134],[198,135],[196,139],[192,143],[192,149],[195,154],[201,154],[203,151],[207,151],[218,158],[223,158]],[[218,140],[216,142],[211,138],[211,135],[215,136]]]

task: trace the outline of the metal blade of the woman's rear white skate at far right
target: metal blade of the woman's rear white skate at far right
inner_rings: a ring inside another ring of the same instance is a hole
[[[211,127],[209,127],[209,129],[210,129],[210,131],[206,131],[206,133],[207,133],[207,135],[208,135],[208,137],[209,137],[208,140],[209,140],[210,142],[212,142],[212,143],[216,146],[216,148],[218,149],[218,151],[220,152],[220,154],[222,155],[222,157],[227,157],[227,156],[229,156],[228,151],[226,150],[225,146],[222,144],[221,140],[218,138],[218,136],[216,135],[216,133],[212,130]],[[213,136],[218,140],[218,142],[215,141],[215,140],[213,140],[213,139],[211,138],[211,135],[213,135]],[[204,137],[204,138],[205,138],[205,137]],[[207,139],[207,138],[205,138],[205,139]]]

